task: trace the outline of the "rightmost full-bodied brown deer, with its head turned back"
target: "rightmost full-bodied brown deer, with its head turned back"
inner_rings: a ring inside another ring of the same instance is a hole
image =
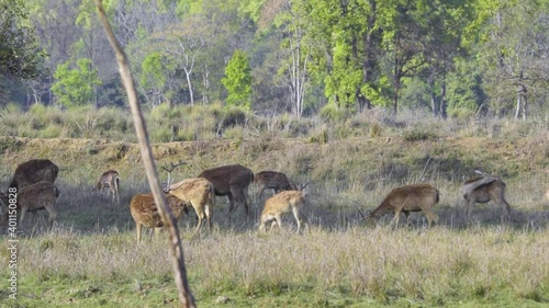
[[[502,207],[502,224],[511,216],[511,206],[505,201],[505,183],[500,176],[484,174],[475,169],[480,176],[467,180],[461,186],[461,194],[466,199],[467,219],[471,220],[472,206],[475,203],[495,202]]]

